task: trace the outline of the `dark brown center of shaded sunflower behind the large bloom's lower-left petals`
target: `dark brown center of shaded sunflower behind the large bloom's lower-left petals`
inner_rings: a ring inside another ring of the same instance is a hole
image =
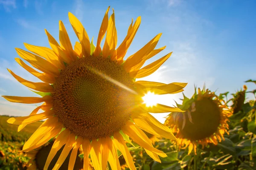
[[[38,170],[44,170],[44,165],[46,163],[47,157],[50,153],[50,150],[52,149],[53,142],[50,142],[47,146],[43,146],[40,150],[38,150],[38,153],[35,155],[35,164]],[[65,145],[64,145],[65,146]],[[58,161],[59,156],[61,155],[62,150],[64,149],[64,146],[61,147],[60,150],[56,153],[54,158],[52,159],[51,163],[49,164],[48,170],[52,170],[55,166],[56,162]],[[59,168],[59,170],[67,170],[68,169],[68,163],[70,159],[71,151],[68,154],[67,158]],[[80,170],[83,167],[83,163],[81,162],[81,159],[79,158],[79,151],[76,155],[76,162],[74,165],[73,170]]]

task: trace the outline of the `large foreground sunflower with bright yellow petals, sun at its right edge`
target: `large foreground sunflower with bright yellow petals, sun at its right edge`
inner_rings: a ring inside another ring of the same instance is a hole
[[[187,83],[163,84],[159,82],[135,81],[156,71],[172,54],[141,68],[147,59],[158,54],[165,47],[154,49],[161,34],[157,34],[143,48],[129,56],[125,54],[140,26],[140,17],[128,28],[123,42],[116,48],[117,34],[114,11],[108,18],[107,9],[96,46],[90,42],[80,21],[71,13],[69,20],[79,42],[74,49],[63,23],[59,22],[60,44],[45,30],[50,48],[29,45],[27,52],[16,48],[20,58],[15,60],[27,71],[43,82],[27,81],[11,70],[12,76],[23,85],[35,90],[42,97],[3,96],[10,102],[43,103],[29,116],[13,117],[7,122],[20,125],[18,131],[27,124],[47,119],[32,134],[23,146],[23,151],[33,150],[56,137],[49,152],[44,170],[58,150],[64,146],[55,166],[57,170],[71,152],[69,167],[73,169],[76,153],[81,146],[84,153],[84,170],[88,169],[89,154],[96,170],[105,170],[109,162],[113,170],[120,169],[117,149],[122,153],[128,167],[135,170],[132,156],[125,144],[129,137],[142,146],[154,160],[166,154],[157,150],[142,129],[154,135],[176,140],[168,127],[157,121],[150,113],[182,112],[179,108],[156,104],[146,107],[142,97],[148,92],[154,94],[175,94],[183,91]],[[106,37],[105,37],[106,34]],[[103,37],[105,42],[100,47]],[[37,113],[41,109],[43,113]]]

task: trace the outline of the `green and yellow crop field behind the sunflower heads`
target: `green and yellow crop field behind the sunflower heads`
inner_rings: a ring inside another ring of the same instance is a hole
[[[249,80],[250,83],[256,81]],[[254,91],[243,91],[245,94]],[[228,93],[218,94],[219,99],[229,102]],[[240,95],[240,99],[239,99]],[[233,94],[229,109],[233,114],[228,117],[229,130],[221,142],[209,143],[206,147],[196,144],[197,149],[179,147],[173,141],[157,138],[146,133],[154,147],[163,150],[168,157],[160,158],[162,163],[154,161],[145,150],[126,136],[126,142],[138,170],[255,170],[256,169],[256,103],[255,100],[245,102],[241,93]],[[187,100],[189,101],[189,100]],[[17,132],[17,125],[6,122],[8,116],[0,116],[0,170],[26,170],[29,158],[19,152],[24,142],[31,136],[42,122],[27,125]],[[195,121],[195,120],[194,120]],[[204,120],[200,120],[204,121]],[[175,133],[176,134],[176,133]],[[212,139],[214,140],[214,139]],[[189,154],[188,154],[189,153]],[[82,158],[82,154],[79,155]],[[122,169],[128,169],[122,154],[118,151]],[[109,169],[111,169],[109,167]]]

